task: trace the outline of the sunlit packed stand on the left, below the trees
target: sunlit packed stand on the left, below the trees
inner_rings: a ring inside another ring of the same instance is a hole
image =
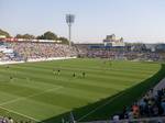
[[[76,55],[76,49],[65,44],[7,42],[0,45],[0,60],[28,60]]]

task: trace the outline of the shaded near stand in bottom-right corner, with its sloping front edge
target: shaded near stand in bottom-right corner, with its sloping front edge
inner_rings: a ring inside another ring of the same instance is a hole
[[[165,79],[145,93],[134,104],[114,114],[112,123],[164,123],[165,122]]]

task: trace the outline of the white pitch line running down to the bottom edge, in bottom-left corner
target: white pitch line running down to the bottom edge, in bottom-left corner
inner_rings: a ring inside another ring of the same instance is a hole
[[[0,109],[3,109],[3,110],[6,110],[6,111],[8,111],[8,112],[11,112],[11,113],[14,113],[14,114],[18,114],[18,115],[22,115],[22,116],[28,118],[28,119],[31,119],[31,120],[33,120],[33,121],[35,121],[35,122],[42,122],[42,121],[40,121],[40,120],[37,120],[37,119],[34,119],[34,118],[32,118],[32,116],[29,116],[29,115],[19,113],[19,112],[16,112],[16,111],[13,111],[13,110],[10,110],[10,109],[3,108],[3,107],[0,107]],[[42,122],[42,123],[43,123],[43,122]]]

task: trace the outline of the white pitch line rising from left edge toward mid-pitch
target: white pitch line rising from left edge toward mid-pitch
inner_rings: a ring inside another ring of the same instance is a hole
[[[22,98],[16,98],[16,99],[13,99],[13,100],[10,100],[10,101],[6,101],[3,103],[0,103],[0,107],[1,105],[6,105],[6,104],[9,104],[9,103],[13,103],[13,102],[16,102],[16,101],[20,101],[20,100],[26,100],[28,98],[32,98],[32,97],[36,97],[36,96],[41,96],[41,94],[44,94],[46,92],[51,92],[51,91],[56,91],[56,90],[59,90],[64,87],[58,87],[58,88],[52,88],[52,89],[47,89],[43,92],[40,92],[40,93],[35,93],[35,94],[31,94],[31,96],[28,96],[28,97],[22,97]]]

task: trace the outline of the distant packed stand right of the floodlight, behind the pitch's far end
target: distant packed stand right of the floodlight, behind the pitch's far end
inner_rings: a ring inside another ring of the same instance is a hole
[[[89,58],[110,58],[110,59],[127,59],[127,60],[143,60],[157,62],[164,60],[165,54],[163,51],[152,52],[143,45],[136,46],[125,45],[124,47],[103,46],[103,44],[76,44],[80,57]]]

